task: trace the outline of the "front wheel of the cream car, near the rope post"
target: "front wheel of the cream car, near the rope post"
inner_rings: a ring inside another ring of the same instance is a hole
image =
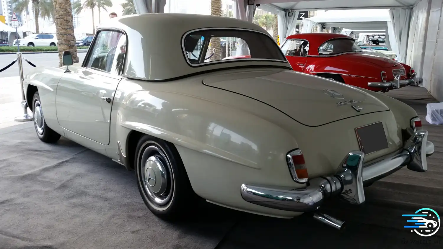
[[[35,92],[32,98],[32,115],[34,116],[35,132],[40,140],[45,143],[54,143],[60,139],[60,134],[49,128],[45,122],[39,92]]]

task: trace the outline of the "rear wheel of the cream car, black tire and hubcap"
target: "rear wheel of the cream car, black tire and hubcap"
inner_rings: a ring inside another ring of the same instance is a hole
[[[144,135],[137,144],[134,162],[137,186],[149,210],[167,221],[186,218],[198,196],[175,146]]]

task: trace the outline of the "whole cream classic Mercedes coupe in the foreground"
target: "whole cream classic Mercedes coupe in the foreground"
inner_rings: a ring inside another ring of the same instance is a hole
[[[251,58],[221,60],[210,46],[220,38],[242,39]],[[197,199],[280,218],[328,198],[358,205],[375,180],[404,166],[426,171],[434,151],[411,107],[293,71],[268,32],[238,19],[113,18],[82,63],[65,51],[63,64],[25,77],[37,136],[63,136],[134,170],[164,219]]]

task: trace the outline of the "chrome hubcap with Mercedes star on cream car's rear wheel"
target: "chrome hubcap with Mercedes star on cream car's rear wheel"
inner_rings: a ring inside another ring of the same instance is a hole
[[[173,193],[171,165],[166,155],[157,146],[148,146],[143,154],[143,157],[149,157],[140,172],[142,187],[153,204],[164,206]]]

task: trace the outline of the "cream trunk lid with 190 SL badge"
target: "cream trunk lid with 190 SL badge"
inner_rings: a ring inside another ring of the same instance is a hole
[[[291,70],[226,73],[207,77],[203,84],[259,100],[306,126],[389,111],[383,102],[357,88]]]

